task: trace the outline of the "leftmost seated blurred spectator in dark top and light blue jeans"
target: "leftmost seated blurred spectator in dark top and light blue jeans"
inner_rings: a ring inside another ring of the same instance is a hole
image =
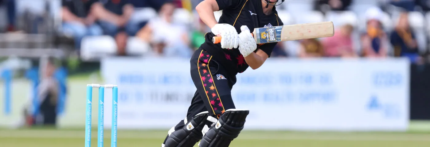
[[[101,27],[95,24],[95,15],[91,12],[97,0],[62,0],[61,14],[63,31],[74,36],[75,48],[80,48],[84,36],[102,35]]]

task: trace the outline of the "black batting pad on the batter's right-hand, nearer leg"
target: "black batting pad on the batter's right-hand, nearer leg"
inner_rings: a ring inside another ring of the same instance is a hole
[[[249,110],[228,109],[203,136],[200,147],[228,147],[239,136]]]

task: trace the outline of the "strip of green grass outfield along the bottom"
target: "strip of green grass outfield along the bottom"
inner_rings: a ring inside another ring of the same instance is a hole
[[[110,147],[110,131],[104,146]],[[83,147],[83,130],[0,130],[2,147]],[[166,131],[118,132],[118,147],[160,147]],[[97,130],[92,131],[92,146]],[[197,146],[196,146],[197,147]],[[430,147],[430,133],[244,131],[230,147]]]

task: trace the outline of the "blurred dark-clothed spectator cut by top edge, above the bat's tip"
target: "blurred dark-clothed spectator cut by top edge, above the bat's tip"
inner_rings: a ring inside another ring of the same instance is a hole
[[[352,0],[315,0],[314,9],[323,13],[332,11],[345,11],[351,5]]]

